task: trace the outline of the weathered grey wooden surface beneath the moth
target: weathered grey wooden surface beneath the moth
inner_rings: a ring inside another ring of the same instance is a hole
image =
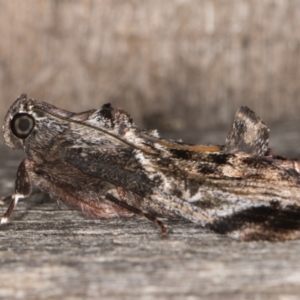
[[[21,154],[0,144],[0,193]],[[6,207],[0,207],[4,213]],[[0,299],[299,299],[300,241],[239,242],[186,221],[89,219],[43,194],[0,228]]]

